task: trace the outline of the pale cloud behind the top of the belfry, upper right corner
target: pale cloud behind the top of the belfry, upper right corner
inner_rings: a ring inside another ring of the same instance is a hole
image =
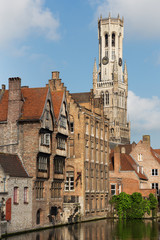
[[[95,19],[124,16],[127,34],[132,38],[160,38],[160,1],[159,0],[103,0],[97,6]]]

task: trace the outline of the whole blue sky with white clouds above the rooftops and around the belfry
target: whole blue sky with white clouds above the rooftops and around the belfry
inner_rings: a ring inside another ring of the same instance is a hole
[[[131,142],[151,136],[160,148],[159,0],[1,0],[0,84],[20,77],[43,87],[52,71],[70,92],[92,88],[100,15],[124,17],[123,62],[128,69]]]

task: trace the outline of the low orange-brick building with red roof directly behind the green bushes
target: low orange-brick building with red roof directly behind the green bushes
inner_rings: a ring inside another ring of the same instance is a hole
[[[148,187],[149,179],[145,170],[129,154],[133,145],[117,146],[110,153],[110,193],[118,195],[121,192],[132,194],[140,192],[143,197],[148,197],[150,193],[155,194],[155,190]]]

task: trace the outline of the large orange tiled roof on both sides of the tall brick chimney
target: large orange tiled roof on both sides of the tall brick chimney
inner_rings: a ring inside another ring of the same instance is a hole
[[[0,101],[0,121],[7,121],[8,90]],[[21,88],[23,106],[19,120],[38,120],[42,116],[48,88]]]

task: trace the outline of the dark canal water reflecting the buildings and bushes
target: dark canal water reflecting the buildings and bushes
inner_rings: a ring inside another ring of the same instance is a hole
[[[9,240],[160,240],[156,221],[99,220],[27,233]]]

